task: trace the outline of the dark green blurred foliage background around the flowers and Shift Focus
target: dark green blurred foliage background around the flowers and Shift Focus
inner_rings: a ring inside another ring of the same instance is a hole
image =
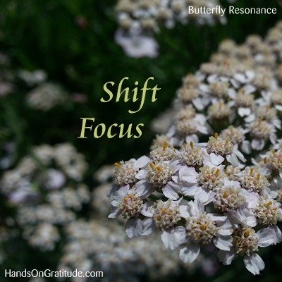
[[[149,130],[150,121],[169,106],[180,87],[181,77],[207,61],[222,39],[230,37],[243,42],[252,33],[265,35],[282,15],[278,1],[237,1],[234,5],[238,7],[274,6],[278,13],[228,16],[227,25],[214,27],[177,25],[173,30],[163,29],[156,36],[160,45],[157,59],[130,59],[114,42],[115,4],[116,1],[110,0],[0,1],[0,49],[10,56],[12,68],[30,71],[42,68],[49,80],[59,82],[68,92],[82,92],[88,97],[87,104],[70,102],[42,113],[24,105],[27,88],[20,85],[15,93],[0,99],[1,136],[9,135],[16,140],[18,159],[33,145],[72,142],[90,164],[88,183],[92,187],[92,173],[102,164],[147,153],[154,137]],[[85,18],[84,27],[76,23],[81,16]],[[128,114],[130,104],[99,102],[104,83],[110,80],[118,83],[125,76],[130,78],[131,85],[135,80],[142,85],[153,76],[161,87],[158,101],[152,104],[147,98],[142,111],[134,115]],[[94,117],[97,123],[108,125],[145,123],[145,128],[137,140],[106,137],[95,140],[91,135],[87,135],[87,140],[79,140],[80,117]],[[27,247],[23,240],[10,242],[4,246],[9,257],[0,267],[1,274],[5,268],[55,269],[60,247],[55,252],[42,254]],[[281,247],[272,249],[264,254],[266,270],[259,278],[248,274],[238,262],[222,268],[212,281],[280,281]],[[180,277],[180,280],[196,278],[207,280],[200,273],[190,278]]]

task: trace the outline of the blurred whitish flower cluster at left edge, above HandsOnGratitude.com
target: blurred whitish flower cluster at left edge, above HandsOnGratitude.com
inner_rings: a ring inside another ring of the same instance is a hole
[[[17,207],[16,223],[23,237],[42,250],[61,238],[59,226],[75,220],[90,192],[82,181],[87,169],[82,154],[65,143],[32,149],[18,165],[4,172],[1,192]]]

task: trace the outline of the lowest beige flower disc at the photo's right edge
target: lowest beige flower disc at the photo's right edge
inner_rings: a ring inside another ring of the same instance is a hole
[[[273,199],[260,197],[254,212],[259,223],[264,225],[276,225],[278,221],[282,221],[281,204]]]

